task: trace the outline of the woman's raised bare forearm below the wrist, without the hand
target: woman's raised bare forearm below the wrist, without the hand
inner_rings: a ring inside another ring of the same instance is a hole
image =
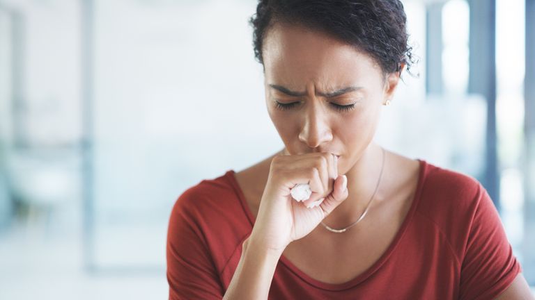
[[[267,299],[275,267],[282,253],[269,251],[251,238],[242,245],[242,256],[223,299]]]

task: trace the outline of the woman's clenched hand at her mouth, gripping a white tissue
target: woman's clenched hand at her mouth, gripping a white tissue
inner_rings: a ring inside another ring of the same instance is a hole
[[[338,175],[336,160],[331,153],[275,156],[251,239],[282,253],[290,242],[303,238],[316,228],[348,197],[347,178]],[[298,202],[291,197],[290,190],[297,183],[309,183],[312,194],[308,200]],[[325,199],[319,206],[307,208],[322,198]]]

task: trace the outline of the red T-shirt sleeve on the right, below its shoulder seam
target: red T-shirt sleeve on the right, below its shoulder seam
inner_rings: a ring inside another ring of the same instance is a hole
[[[522,269],[494,203],[481,184],[475,201],[460,270],[459,299],[495,299]]]

